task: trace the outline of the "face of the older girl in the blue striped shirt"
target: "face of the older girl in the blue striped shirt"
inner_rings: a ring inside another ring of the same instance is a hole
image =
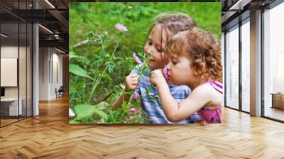
[[[146,54],[146,57],[153,55],[151,60],[148,62],[148,67],[153,69],[163,68],[166,65],[164,53],[166,38],[164,31],[161,33],[161,30],[161,26],[159,24],[156,25],[149,35],[146,45],[144,46],[144,53]]]

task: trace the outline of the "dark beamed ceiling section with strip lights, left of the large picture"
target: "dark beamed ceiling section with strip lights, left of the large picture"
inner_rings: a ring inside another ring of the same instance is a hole
[[[1,0],[1,33],[9,35],[5,38],[6,43],[26,39],[26,28],[23,28],[26,25],[21,23],[39,23],[40,47],[56,47],[67,53],[69,48],[69,1]],[[18,22],[20,32],[18,32],[18,25],[15,25]]]

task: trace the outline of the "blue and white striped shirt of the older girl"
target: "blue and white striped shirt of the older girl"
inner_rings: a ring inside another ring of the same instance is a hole
[[[137,69],[139,66],[140,65],[136,66],[134,70],[131,71],[131,74],[138,75]],[[158,90],[156,89],[156,87],[151,85],[149,72],[143,72],[143,77],[140,78],[141,79],[138,82],[139,85],[136,89],[136,92],[140,96],[141,108],[143,109],[143,119],[148,119],[148,121],[153,124],[174,124],[173,122],[168,121],[167,116],[165,116],[163,107],[161,106],[158,97]],[[182,100],[186,99],[190,94],[189,87],[185,85],[176,86],[170,84],[169,88],[170,94],[172,94],[173,98],[177,102],[182,102]],[[148,96],[149,94],[151,97]],[[200,119],[200,116],[193,114],[188,119],[175,122],[175,124],[193,123],[194,121],[198,121]]]

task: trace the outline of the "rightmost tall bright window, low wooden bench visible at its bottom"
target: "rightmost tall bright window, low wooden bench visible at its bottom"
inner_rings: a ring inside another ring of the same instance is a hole
[[[263,13],[264,116],[284,121],[284,3]]]

